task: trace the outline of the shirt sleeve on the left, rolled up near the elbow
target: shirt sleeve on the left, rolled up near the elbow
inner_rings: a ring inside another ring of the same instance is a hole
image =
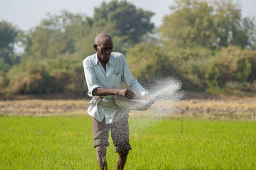
[[[93,97],[92,92],[94,89],[100,88],[97,84],[97,76],[93,70],[93,67],[88,64],[88,61],[83,61],[84,75],[86,79],[86,84],[88,88],[88,96]]]

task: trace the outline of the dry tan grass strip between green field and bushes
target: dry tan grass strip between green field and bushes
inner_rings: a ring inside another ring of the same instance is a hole
[[[0,114],[52,116],[87,115],[89,100],[0,100]],[[157,101],[148,111],[132,111],[137,117],[200,117],[255,119],[256,98],[191,99]]]

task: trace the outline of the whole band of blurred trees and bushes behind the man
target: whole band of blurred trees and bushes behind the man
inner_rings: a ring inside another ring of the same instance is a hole
[[[93,17],[61,11],[22,31],[0,21],[0,95],[86,95],[82,61],[95,35],[113,36],[142,84],[177,77],[189,91],[255,95],[256,22],[235,1],[176,1],[163,24],[127,1],[95,8]],[[15,54],[14,45],[24,47]]]

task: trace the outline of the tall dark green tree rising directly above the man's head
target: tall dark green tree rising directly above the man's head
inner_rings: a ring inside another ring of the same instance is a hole
[[[150,22],[153,15],[127,1],[111,1],[95,8],[93,26],[122,38],[124,45],[133,45],[154,29],[154,24]]]

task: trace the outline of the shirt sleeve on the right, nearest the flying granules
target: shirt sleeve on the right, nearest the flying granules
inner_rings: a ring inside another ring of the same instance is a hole
[[[144,89],[141,86],[141,84],[132,76],[132,73],[129,70],[129,66],[127,65],[125,57],[124,57],[123,81],[127,85],[127,88],[130,89],[136,95],[141,95],[141,97],[143,97],[143,95],[148,94],[148,91]]]

